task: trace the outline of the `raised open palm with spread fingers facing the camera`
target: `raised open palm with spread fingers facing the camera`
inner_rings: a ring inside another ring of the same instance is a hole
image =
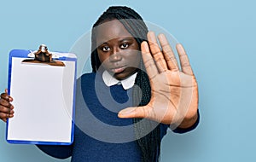
[[[141,45],[151,85],[151,100],[146,106],[121,110],[119,118],[147,118],[174,127],[188,128],[198,118],[195,75],[183,46],[180,43],[176,46],[180,69],[166,37],[160,34],[158,38],[162,50],[154,32],[148,32],[148,43],[143,42]]]

